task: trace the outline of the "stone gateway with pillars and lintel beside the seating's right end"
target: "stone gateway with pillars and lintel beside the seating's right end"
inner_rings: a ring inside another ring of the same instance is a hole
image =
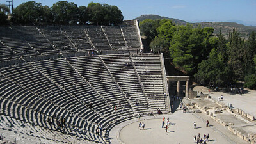
[[[167,81],[176,81],[177,82],[177,96],[180,97],[180,81],[186,81],[185,96],[188,97],[188,81],[189,76],[166,76]]]

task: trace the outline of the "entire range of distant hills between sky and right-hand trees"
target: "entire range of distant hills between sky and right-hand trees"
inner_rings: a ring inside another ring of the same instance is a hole
[[[173,19],[169,17],[161,17],[159,15],[141,15],[140,17],[136,17],[135,19],[143,21],[145,19],[155,20],[155,19],[164,19],[164,18],[171,19],[175,24],[178,24],[178,25],[186,25],[189,23],[184,20]],[[221,29],[221,32],[225,35],[225,38],[228,38],[228,33],[232,31],[234,28],[237,29],[237,31],[239,31],[239,33],[241,34],[240,35],[241,38],[247,38],[248,34],[251,31],[256,32],[256,26],[244,26],[243,24],[237,24],[236,22],[196,22],[196,23],[189,23],[189,24],[193,24],[194,27],[197,27],[199,24],[202,26],[202,28],[212,27],[214,28],[214,35],[217,35]]]

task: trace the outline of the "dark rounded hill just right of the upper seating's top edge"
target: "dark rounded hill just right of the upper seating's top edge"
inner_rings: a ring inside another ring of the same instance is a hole
[[[184,20],[179,20],[179,19],[174,19],[174,18],[169,18],[169,17],[161,17],[159,15],[141,15],[140,17],[136,17],[135,19],[140,20],[140,22],[142,22],[145,19],[152,19],[152,20],[156,20],[156,19],[170,19],[175,24],[178,24],[178,25],[186,25],[188,23],[188,22],[186,22]]]

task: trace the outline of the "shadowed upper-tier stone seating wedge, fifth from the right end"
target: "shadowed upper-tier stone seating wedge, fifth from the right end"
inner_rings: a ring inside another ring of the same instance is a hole
[[[76,51],[76,47],[69,42],[60,26],[40,26],[38,28],[61,51]]]

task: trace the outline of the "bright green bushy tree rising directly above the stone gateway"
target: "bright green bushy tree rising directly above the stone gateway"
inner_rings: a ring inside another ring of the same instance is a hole
[[[198,63],[206,60],[216,39],[212,28],[194,28],[192,25],[177,26],[170,42],[170,56],[175,66],[183,67],[189,75],[196,71]]]

